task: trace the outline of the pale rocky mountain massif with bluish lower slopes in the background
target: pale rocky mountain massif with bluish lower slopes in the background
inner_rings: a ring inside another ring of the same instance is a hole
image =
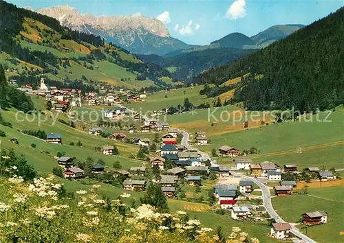
[[[96,17],[80,14],[68,5],[39,9],[36,12],[58,19],[61,25],[72,30],[102,36],[108,43],[120,45],[136,54],[163,55],[191,47],[172,38],[161,21],[142,15]]]

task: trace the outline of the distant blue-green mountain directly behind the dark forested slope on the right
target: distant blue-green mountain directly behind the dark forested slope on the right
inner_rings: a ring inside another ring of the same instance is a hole
[[[252,36],[251,40],[253,40],[255,45],[259,47],[266,47],[276,40],[286,38],[303,27],[305,27],[305,25],[274,25],[263,32],[259,32],[255,36]]]

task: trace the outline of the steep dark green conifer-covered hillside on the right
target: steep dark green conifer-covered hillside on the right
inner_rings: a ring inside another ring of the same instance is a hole
[[[237,84],[233,98],[248,109],[333,108],[344,103],[343,47],[341,8],[266,49],[206,71],[194,81],[219,85],[250,73]]]

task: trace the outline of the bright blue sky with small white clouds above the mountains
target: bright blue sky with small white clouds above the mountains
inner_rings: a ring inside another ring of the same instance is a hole
[[[71,5],[95,16],[142,14],[164,21],[171,36],[193,45],[206,45],[232,32],[252,36],[272,25],[308,25],[344,5],[344,0],[10,0],[20,7]]]

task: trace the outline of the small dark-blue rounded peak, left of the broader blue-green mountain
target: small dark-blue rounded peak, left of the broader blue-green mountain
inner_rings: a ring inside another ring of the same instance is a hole
[[[218,44],[220,47],[230,47],[241,49],[244,45],[254,45],[255,42],[248,36],[241,33],[232,33],[224,36],[219,40],[213,41],[211,44]]]

